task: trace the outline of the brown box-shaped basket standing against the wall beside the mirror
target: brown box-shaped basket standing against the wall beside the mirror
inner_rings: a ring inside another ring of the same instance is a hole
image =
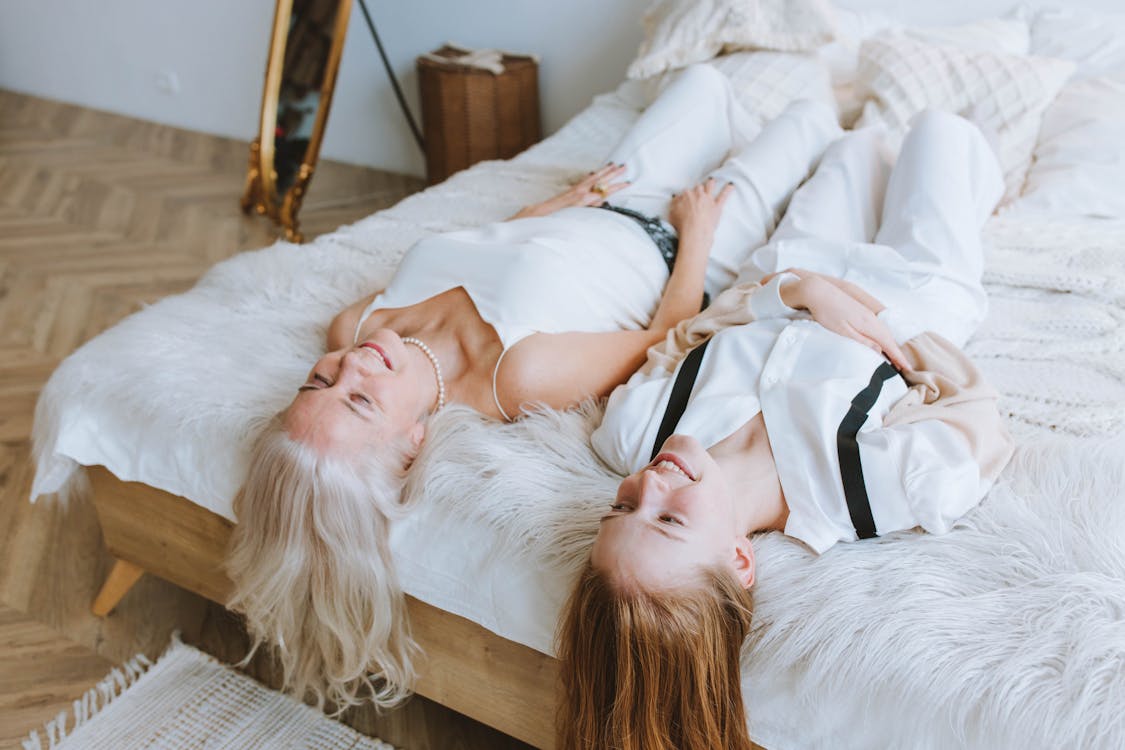
[[[451,62],[467,49],[444,46],[417,58],[430,183],[485,159],[508,159],[540,138],[539,64],[502,56],[503,73]]]

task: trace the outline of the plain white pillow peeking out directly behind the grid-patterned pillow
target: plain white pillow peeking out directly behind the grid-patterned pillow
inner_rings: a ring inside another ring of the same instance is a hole
[[[976,52],[1002,52],[1026,55],[1030,30],[1022,18],[984,18],[960,26],[903,27],[876,10],[836,9],[836,40],[817,51],[828,66],[840,112],[840,121],[852,125],[863,109],[863,97],[856,87],[860,67],[860,45],[880,31],[901,31],[933,44],[947,44]]]

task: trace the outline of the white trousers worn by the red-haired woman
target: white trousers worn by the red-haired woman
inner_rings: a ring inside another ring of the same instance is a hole
[[[893,168],[882,132],[856,130],[826,150],[739,281],[786,268],[847,279],[886,306],[899,341],[933,331],[963,346],[988,313],[981,228],[1002,195],[996,154],[956,115],[920,114]]]

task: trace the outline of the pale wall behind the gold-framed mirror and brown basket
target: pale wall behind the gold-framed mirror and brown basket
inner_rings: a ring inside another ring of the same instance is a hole
[[[368,0],[415,117],[414,58],[452,40],[539,55],[544,135],[623,78],[646,6]],[[0,0],[0,87],[249,142],[272,19],[273,0]],[[164,73],[178,91],[162,90]],[[424,171],[358,3],[322,155]]]

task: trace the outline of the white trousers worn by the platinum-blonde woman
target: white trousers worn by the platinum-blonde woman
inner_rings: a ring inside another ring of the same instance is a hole
[[[706,177],[735,184],[723,207],[708,263],[712,296],[734,282],[749,254],[765,244],[790,197],[840,134],[828,106],[790,105],[762,127],[709,65],[684,69],[610,152],[631,184],[614,206],[667,220],[672,196]]]

